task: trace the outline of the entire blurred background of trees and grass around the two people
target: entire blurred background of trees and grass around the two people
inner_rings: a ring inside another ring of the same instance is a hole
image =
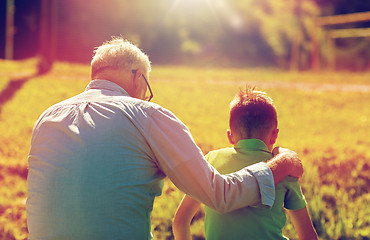
[[[304,161],[320,239],[370,239],[369,0],[0,0],[0,239],[28,236],[35,121],[84,91],[94,48],[117,35],[149,55],[154,102],[203,153],[228,144],[238,87],[266,90],[279,110],[279,144]],[[155,239],[173,239],[181,198],[165,181]],[[204,239],[203,219],[192,224],[194,239]],[[291,222],[284,231],[297,239]]]

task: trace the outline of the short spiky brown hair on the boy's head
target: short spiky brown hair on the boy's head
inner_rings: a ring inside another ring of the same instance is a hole
[[[230,129],[244,139],[264,138],[273,127],[277,127],[274,103],[266,93],[246,86],[230,103]]]

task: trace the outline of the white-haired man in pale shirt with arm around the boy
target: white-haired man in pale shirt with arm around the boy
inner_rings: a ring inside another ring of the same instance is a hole
[[[140,49],[113,38],[96,49],[85,92],[40,116],[28,157],[30,240],[151,239],[165,176],[219,212],[271,206],[274,180],[301,176],[289,150],[220,175],[176,116],[145,101],[150,70]]]

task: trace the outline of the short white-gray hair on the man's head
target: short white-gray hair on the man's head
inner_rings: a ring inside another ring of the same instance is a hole
[[[122,37],[112,37],[94,50],[91,61],[91,76],[103,69],[132,70],[140,69],[148,77],[151,71],[148,56],[137,46]]]

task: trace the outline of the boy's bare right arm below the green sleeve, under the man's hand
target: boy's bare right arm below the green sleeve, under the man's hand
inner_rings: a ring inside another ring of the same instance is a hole
[[[292,219],[294,228],[298,233],[299,240],[315,240],[318,239],[315,228],[312,225],[307,207],[299,210],[288,210],[289,216]]]

